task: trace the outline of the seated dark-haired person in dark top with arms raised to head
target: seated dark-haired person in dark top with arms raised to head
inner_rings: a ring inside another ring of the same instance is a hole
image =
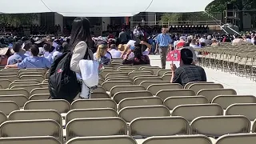
[[[122,64],[132,64],[132,65],[143,65],[143,64],[150,64],[150,58],[147,55],[142,54],[142,44],[135,42],[134,50],[133,48],[130,49],[130,46],[127,46],[126,55],[122,61]],[[129,55],[132,53],[134,54],[133,58],[129,58]]]

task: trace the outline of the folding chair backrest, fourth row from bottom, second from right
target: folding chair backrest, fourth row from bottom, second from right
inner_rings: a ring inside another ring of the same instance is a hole
[[[179,96],[179,97],[170,97],[166,98],[164,101],[164,105],[169,108],[169,110],[173,110],[174,107],[179,105],[187,105],[187,104],[206,104],[209,101],[206,97],[203,96]]]

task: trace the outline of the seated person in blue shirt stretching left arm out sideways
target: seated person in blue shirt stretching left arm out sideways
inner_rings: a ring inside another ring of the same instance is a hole
[[[6,68],[50,68],[50,62],[44,57],[38,57],[39,49],[38,46],[32,45],[30,48],[30,57],[24,58],[22,62],[19,62],[14,65],[7,65]]]

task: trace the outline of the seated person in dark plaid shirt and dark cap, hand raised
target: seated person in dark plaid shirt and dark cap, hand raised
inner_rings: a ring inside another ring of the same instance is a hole
[[[177,68],[173,63],[170,66],[172,77],[170,82],[185,86],[189,82],[206,82],[206,72],[201,66],[192,64],[193,53],[189,49],[181,50],[181,62]]]

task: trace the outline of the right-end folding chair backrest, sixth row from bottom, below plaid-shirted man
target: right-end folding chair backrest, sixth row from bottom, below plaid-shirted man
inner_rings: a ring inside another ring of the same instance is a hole
[[[197,94],[198,91],[203,89],[223,89],[224,87],[222,84],[219,83],[194,83],[191,86],[189,86],[188,89],[194,90],[194,92]]]

